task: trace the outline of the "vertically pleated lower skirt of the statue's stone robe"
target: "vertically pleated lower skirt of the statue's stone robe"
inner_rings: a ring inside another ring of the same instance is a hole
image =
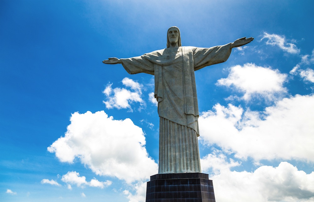
[[[160,117],[158,173],[201,172],[196,132]]]

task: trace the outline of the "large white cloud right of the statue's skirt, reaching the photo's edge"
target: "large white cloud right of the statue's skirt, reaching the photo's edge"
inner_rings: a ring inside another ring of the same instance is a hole
[[[263,113],[243,112],[231,104],[213,108],[199,117],[203,144],[217,144],[242,159],[314,162],[313,95],[284,98]]]

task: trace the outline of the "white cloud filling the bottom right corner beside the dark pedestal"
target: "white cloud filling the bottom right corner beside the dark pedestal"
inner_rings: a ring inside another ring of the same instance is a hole
[[[201,165],[203,171],[215,171],[210,179],[217,201],[309,202],[314,199],[314,172],[306,174],[287,162],[281,162],[278,167],[261,166],[254,172],[236,172],[230,168],[239,163],[232,159],[228,162],[224,154],[216,151],[204,157]]]

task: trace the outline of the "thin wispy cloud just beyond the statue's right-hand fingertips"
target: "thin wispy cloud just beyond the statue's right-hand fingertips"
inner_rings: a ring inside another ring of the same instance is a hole
[[[267,39],[266,44],[267,45],[272,45],[272,46],[278,46],[281,48],[283,51],[292,53],[292,54],[297,54],[300,53],[300,50],[297,48],[297,46],[293,43],[288,43],[286,41],[285,36],[280,36],[277,34],[268,34],[267,32],[264,32],[263,39]]]

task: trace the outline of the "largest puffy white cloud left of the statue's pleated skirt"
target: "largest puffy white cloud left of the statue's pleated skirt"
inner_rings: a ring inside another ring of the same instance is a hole
[[[127,183],[157,173],[158,165],[145,149],[143,130],[131,119],[114,120],[101,111],[75,112],[70,121],[65,136],[47,148],[60,161],[72,163],[77,157],[96,174],[115,176]]]

